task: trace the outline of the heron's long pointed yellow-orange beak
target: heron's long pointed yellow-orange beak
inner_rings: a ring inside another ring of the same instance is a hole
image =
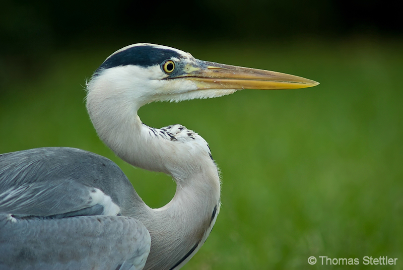
[[[185,67],[187,73],[180,77],[193,81],[198,89],[297,89],[319,84],[309,79],[285,73],[196,61],[197,66],[188,64]]]

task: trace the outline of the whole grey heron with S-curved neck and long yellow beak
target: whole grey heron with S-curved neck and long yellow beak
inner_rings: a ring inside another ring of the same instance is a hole
[[[1,269],[179,269],[204,244],[220,211],[220,178],[207,142],[175,124],[152,128],[139,108],[242,89],[293,89],[297,76],[201,61],[139,43],[100,65],[87,83],[99,138],[121,159],[164,172],[176,192],[151,209],[109,159],[74,148],[0,155]]]

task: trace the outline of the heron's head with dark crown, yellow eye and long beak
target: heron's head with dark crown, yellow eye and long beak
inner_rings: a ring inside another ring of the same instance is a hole
[[[202,61],[178,49],[139,43],[106,58],[87,89],[113,91],[109,94],[135,99],[141,107],[153,101],[219,97],[242,89],[294,89],[317,84],[298,76]]]

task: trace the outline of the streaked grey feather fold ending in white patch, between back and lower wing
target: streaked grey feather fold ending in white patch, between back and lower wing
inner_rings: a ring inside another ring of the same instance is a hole
[[[108,199],[109,198],[109,199]],[[106,212],[106,209],[114,211]],[[119,207],[98,188],[71,179],[24,183],[0,193],[0,213],[14,217],[63,218],[119,213]]]

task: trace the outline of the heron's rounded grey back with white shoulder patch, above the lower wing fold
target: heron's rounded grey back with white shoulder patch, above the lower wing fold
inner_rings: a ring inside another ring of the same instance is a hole
[[[142,203],[133,198],[139,197],[120,168],[87,151],[39,148],[0,155],[0,213],[116,215]]]

